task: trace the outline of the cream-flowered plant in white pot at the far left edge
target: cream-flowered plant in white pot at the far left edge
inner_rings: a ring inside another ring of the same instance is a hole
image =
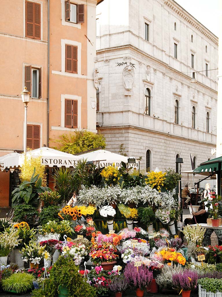
[[[14,228],[0,233],[0,266],[7,265],[8,254],[19,244],[19,236]]]

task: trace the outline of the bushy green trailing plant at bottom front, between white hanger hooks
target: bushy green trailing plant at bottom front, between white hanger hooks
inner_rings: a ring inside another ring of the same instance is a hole
[[[35,290],[33,296],[42,295],[43,290]],[[84,281],[78,272],[78,267],[70,257],[60,256],[50,270],[50,278],[44,284],[47,297],[96,297],[93,287]],[[39,294],[38,294],[39,293]]]

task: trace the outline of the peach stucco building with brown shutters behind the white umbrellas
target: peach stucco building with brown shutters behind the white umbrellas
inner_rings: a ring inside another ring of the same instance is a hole
[[[53,139],[75,129],[96,132],[93,72],[100,1],[1,1],[0,156],[24,150],[24,86],[31,92],[27,146],[52,146]],[[0,207],[10,205],[13,174],[0,172]]]

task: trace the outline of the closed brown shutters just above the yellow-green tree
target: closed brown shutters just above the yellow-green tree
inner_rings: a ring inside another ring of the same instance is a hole
[[[65,99],[65,127],[78,127],[78,101]]]

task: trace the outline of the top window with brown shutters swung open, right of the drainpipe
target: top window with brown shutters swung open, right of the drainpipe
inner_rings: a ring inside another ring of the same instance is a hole
[[[65,0],[65,20],[71,23],[84,23],[84,4],[70,3]]]

